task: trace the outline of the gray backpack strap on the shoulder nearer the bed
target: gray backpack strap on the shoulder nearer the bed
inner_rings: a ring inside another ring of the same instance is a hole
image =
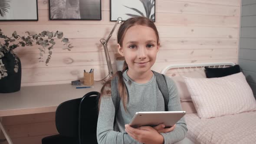
[[[169,91],[167,88],[166,79],[163,74],[155,72],[155,71],[152,71],[152,72],[154,73],[154,75],[156,77],[158,88],[164,97],[164,110],[168,111]]]

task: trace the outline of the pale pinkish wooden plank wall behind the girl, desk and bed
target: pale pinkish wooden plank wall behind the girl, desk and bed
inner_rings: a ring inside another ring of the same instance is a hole
[[[240,33],[240,0],[156,0],[156,26],[161,50],[153,70],[166,65],[187,62],[238,61]],[[38,0],[39,21],[0,22],[7,35],[14,30],[62,31],[75,46],[62,50],[57,43],[53,58],[46,66],[38,62],[38,46],[18,48],[22,62],[22,85],[69,83],[80,79],[83,69],[95,69],[95,79],[108,71],[99,39],[106,38],[115,22],[110,22],[109,0],[102,0],[102,20],[49,20],[48,0]],[[115,68],[116,32],[108,43]],[[54,113],[4,117],[3,124],[14,144],[40,144],[41,138],[56,133]],[[6,142],[4,142],[6,144]]]

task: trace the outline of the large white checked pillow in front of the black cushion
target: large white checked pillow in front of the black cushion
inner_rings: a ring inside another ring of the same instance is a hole
[[[220,78],[184,79],[200,118],[256,110],[253,91],[242,72]]]

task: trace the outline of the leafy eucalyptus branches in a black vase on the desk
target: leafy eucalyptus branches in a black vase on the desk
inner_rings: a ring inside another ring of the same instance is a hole
[[[26,32],[26,36],[19,36],[16,31],[11,37],[3,34],[0,29],[0,93],[16,92],[20,90],[21,83],[21,63],[20,59],[14,53],[14,49],[19,46],[41,46],[39,49],[39,62],[44,62],[43,54],[48,51],[45,61],[46,65],[52,57],[52,49],[56,44],[54,38],[62,39],[66,47],[63,49],[71,50],[73,47],[69,44],[69,39],[62,38],[63,33],[43,31],[41,33]],[[3,42],[4,41],[4,42]]]

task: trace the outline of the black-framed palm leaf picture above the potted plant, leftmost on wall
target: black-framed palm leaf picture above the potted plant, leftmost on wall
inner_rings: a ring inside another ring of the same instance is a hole
[[[0,0],[0,20],[38,20],[37,0]]]

